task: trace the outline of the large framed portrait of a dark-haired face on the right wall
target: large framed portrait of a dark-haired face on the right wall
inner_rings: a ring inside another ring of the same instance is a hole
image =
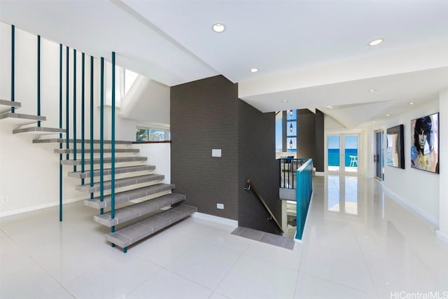
[[[411,120],[411,167],[439,173],[439,113]]]

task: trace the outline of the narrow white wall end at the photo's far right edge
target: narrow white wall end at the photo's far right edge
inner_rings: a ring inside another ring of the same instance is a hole
[[[439,230],[437,236],[448,243],[448,89],[440,93],[440,199]]]

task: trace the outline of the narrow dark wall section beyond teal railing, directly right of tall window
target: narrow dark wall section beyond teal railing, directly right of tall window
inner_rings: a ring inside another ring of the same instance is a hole
[[[308,109],[297,110],[297,157],[316,158],[316,121]]]

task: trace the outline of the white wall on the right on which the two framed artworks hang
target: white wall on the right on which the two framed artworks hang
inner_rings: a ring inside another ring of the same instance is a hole
[[[411,111],[402,113],[400,116],[391,118],[383,127],[404,125],[405,132],[405,169],[385,165],[384,188],[386,192],[395,197],[407,207],[413,209],[429,221],[437,224],[439,222],[439,182],[441,176],[419,169],[411,168],[411,132],[410,122],[412,119],[439,112],[439,100],[433,99],[414,107]],[[440,122],[443,123],[443,120]],[[440,129],[442,131],[442,128]],[[442,135],[441,135],[442,136]],[[441,151],[443,147],[441,146]]]

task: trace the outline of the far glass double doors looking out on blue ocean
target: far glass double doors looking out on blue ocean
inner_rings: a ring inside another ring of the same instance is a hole
[[[327,171],[358,172],[358,134],[335,134],[327,137]]]

